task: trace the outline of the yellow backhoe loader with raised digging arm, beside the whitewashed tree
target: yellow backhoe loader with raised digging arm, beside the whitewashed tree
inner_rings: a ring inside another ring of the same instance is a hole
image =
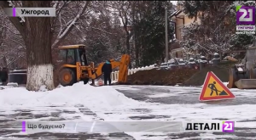
[[[86,58],[85,45],[69,45],[60,46],[59,59],[61,60],[61,69],[59,70],[59,81],[62,86],[72,86],[74,83],[84,81],[88,83],[91,79],[94,81],[99,76],[102,76],[102,62],[97,67],[94,63],[90,64]],[[130,63],[130,56],[123,54],[120,61],[110,59],[112,69],[119,67],[119,82],[126,82],[128,75],[128,66]]]

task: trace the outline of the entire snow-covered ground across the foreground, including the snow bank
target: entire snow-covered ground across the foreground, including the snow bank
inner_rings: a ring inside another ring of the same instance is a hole
[[[90,87],[79,83],[51,92],[8,88],[0,90],[0,136],[2,139],[255,139],[256,90],[231,91],[236,95],[233,100],[199,103],[201,87]],[[236,132],[24,133],[19,126],[21,120],[236,120]]]

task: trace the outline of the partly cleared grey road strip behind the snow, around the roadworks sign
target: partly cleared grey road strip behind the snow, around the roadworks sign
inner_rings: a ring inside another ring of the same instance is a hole
[[[198,104],[201,87],[168,86],[116,86],[128,98],[161,104]],[[231,89],[235,99],[206,102],[206,104],[239,105],[256,104],[256,90]]]

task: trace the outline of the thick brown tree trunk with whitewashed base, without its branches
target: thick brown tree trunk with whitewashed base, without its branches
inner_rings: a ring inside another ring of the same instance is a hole
[[[35,1],[33,7],[50,7],[49,1]],[[51,25],[49,17],[28,17],[25,22],[27,59],[26,89],[38,91],[40,87],[54,89],[53,64],[51,56]]]

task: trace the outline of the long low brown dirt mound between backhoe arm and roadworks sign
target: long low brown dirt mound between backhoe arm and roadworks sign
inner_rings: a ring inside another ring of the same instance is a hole
[[[186,68],[177,70],[140,70],[128,76],[125,84],[174,86],[177,83],[183,83],[197,71]]]

